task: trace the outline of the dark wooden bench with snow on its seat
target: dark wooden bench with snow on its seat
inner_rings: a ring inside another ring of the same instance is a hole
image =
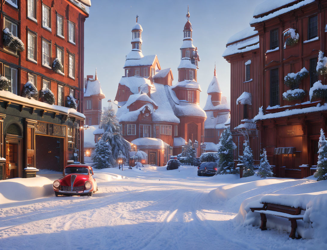
[[[261,230],[267,230],[267,218],[266,214],[283,217],[291,221],[291,233],[289,237],[295,239],[296,228],[298,227],[297,220],[303,220],[303,215],[301,215],[302,208],[293,208],[288,206],[276,205],[272,203],[263,203],[262,208],[250,208],[252,212],[260,213],[261,216]],[[300,239],[300,235],[297,239]]]

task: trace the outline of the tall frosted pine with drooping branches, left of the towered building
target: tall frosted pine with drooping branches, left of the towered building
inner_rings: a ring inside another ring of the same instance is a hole
[[[105,109],[101,116],[99,128],[103,128],[104,133],[101,137],[105,142],[108,142],[112,150],[112,158],[117,162],[119,152],[129,159],[130,143],[126,141],[120,131],[120,125],[115,115],[115,110],[111,107]]]

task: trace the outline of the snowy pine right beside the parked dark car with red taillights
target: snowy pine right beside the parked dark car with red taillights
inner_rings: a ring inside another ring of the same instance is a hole
[[[236,148],[235,143],[232,141],[232,133],[228,128],[225,128],[221,133],[218,143],[218,167],[217,174],[235,174],[233,150]]]

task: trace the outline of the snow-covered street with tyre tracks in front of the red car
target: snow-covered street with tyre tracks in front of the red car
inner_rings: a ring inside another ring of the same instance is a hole
[[[93,197],[55,197],[50,192],[38,199],[2,204],[0,249],[311,248],[313,240],[292,240],[276,229],[235,228],[231,219],[249,197],[277,190],[290,193],[292,187],[301,190],[302,184],[313,181],[274,179],[271,185],[252,185],[249,190],[235,185],[232,193],[225,192],[229,196],[224,202],[216,202],[208,193],[219,186],[263,180],[196,173],[193,166],[170,171],[153,166],[124,172],[96,170],[99,191]],[[54,180],[60,175],[43,176]]]

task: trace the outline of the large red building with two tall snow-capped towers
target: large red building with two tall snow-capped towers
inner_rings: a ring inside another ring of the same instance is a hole
[[[125,75],[115,100],[124,138],[148,155],[148,164],[162,166],[171,155],[180,154],[185,142],[203,142],[205,112],[199,107],[198,56],[192,25],[184,25],[178,83],[172,85],[170,68],[161,69],[157,55],[143,56],[142,27],[132,28],[132,50],[126,56]]]

